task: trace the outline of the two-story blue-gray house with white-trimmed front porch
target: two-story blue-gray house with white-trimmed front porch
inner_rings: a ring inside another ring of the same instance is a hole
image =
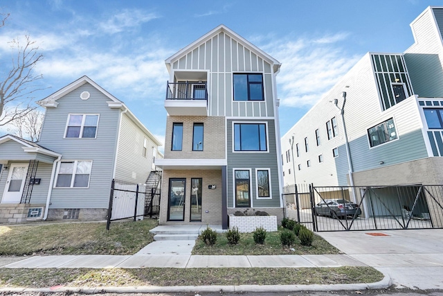
[[[87,76],[37,102],[38,143],[0,137],[0,223],[104,220],[111,181],[145,183],[161,143]]]

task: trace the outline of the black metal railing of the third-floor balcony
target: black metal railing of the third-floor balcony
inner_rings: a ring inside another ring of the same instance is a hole
[[[166,100],[206,100],[206,82],[169,82],[166,87]]]

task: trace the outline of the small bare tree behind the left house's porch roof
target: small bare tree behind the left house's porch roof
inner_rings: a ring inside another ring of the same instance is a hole
[[[43,118],[44,114],[38,110],[28,112],[26,116],[12,121],[12,125],[15,126],[14,134],[17,137],[30,139],[33,142],[38,141],[42,130]]]

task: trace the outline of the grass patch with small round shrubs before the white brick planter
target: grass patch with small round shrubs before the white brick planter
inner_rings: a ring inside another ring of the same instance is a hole
[[[281,227],[280,227],[281,228]],[[225,234],[217,234],[217,243],[208,247],[204,241],[197,239],[193,255],[302,255],[302,254],[341,254],[341,252],[330,245],[320,236],[314,234],[314,241],[311,247],[300,245],[300,240],[296,238],[296,244],[291,247],[283,247],[280,243],[280,233],[267,232],[264,245],[257,245],[254,242],[253,234],[240,234],[240,241],[237,245],[229,245]],[[291,250],[293,249],[293,250]]]

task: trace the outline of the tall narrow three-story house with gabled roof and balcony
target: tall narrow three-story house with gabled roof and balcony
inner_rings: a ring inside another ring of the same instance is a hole
[[[283,216],[275,76],[280,62],[220,25],[166,61],[161,224]]]

